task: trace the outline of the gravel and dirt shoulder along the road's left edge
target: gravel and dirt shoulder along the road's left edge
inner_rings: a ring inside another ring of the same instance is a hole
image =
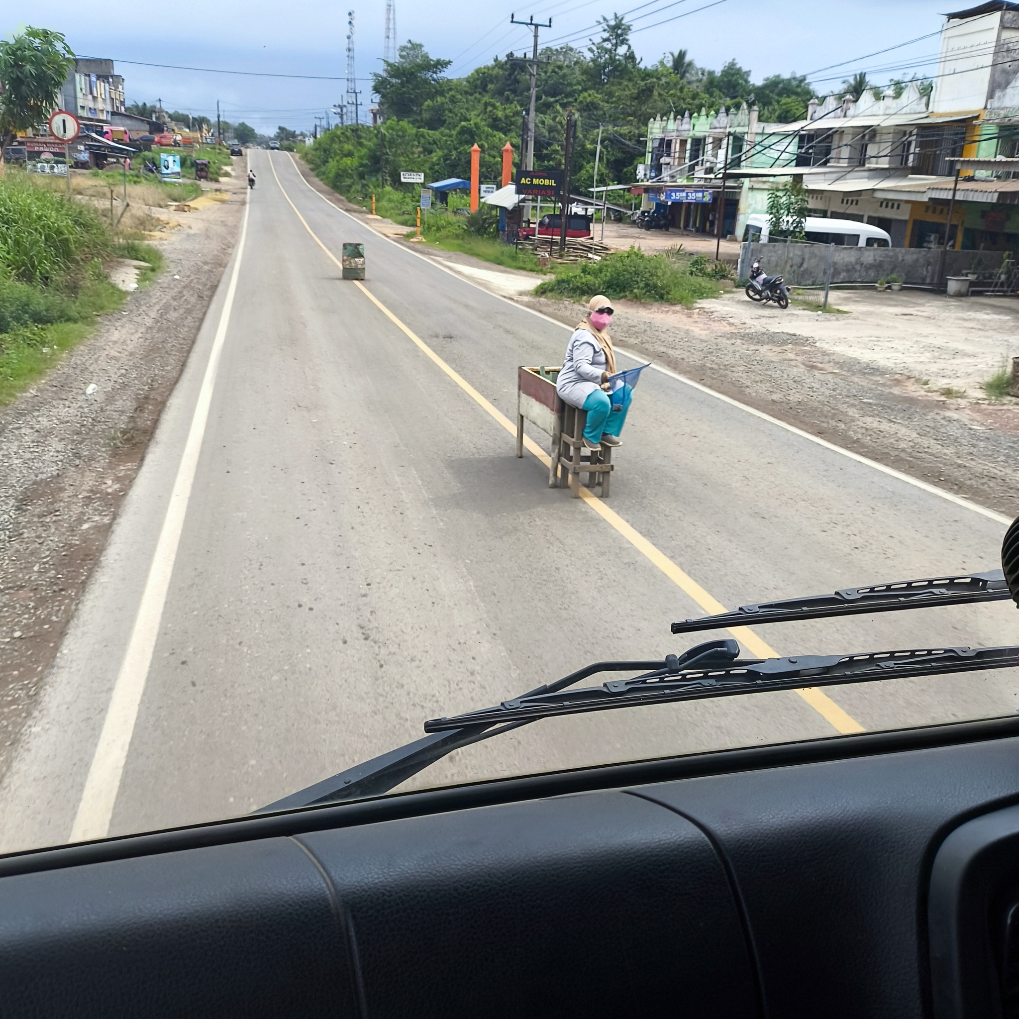
[[[162,274],[0,410],[0,771],[233,251],[245,183],[214,189],[147,210]]]

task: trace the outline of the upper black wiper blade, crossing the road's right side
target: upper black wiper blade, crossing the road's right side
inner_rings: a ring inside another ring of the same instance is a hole
[[[869,587],[849,587],[834,594],[742,605],[732,612],[674,623],[673,633],[728,630],[730,627],[760,623],[820,620],[829,615],[897,612],[905,608],[962,605],[973,601],[1004,601],[1011,597],[1005,574],[1001,570],[988,570],[986,573],[962,574],[958,577],[933,577],[896,581],[892,584],[871,584]]]

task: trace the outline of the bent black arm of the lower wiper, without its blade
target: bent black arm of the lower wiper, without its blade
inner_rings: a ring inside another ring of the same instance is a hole
[[[537,697],[542,694],[553,694],[597,673],[637,673],[664,667],[681,668],[684,665],[693,666],[695,664],[701,667],[727,665],[736,660],[739,653],[740,646],[735,640],[714,640],[698,644],[681,655],[671,654],[664,660],[596,661],[591,665],[577,669],[576,673],[565,676],[561,680],[556,680],[555,683],[538,687],[524,696]],[[435,761],[445,757],[453,750],[470,746],[479,740],[499,736],[512,729],[526,726],[531,720],[529,718],[503,725],[507,719],[497,718],[495,721],[446,727],[441,733],[430,734],[424,739],[415,740],[414,743],[409,743],[407,746],[397,747],[395,750],[390,750],[388,753],[365,761],[363,764],[357,764],[345,771],[340,771],[339,774],[324,779],[314,786],[309,786],[307,789],[291,793],[275,803],[270,803],[255,813],[294,810],[298,807],[317,806],[325,803],[342,803],[346,800],[388,793],[389,790],[395,789],[400,783],[428,767],[429,764],[434,764]]]

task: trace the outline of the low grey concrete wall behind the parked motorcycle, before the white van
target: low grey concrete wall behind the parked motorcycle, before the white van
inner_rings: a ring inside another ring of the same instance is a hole
[[[827,258],[826,245],[746,244],[740,252],[740,276],[745,277],[747,268],[760,259],[764,272],[785,276],[792,286],[823,286]],[[926,248],[837,247],[832,282],[875,283],[895,274],[914,286],[934,286],[941,258],[940,251]],[[974,269],[988,277],[1001,261],[1000,252],[946,252],[945,271],[958,276]]]

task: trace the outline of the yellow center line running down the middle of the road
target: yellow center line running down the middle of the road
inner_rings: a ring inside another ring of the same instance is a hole
[[[298,207],[290,201],[290,196],[286,194],[283,189],[282,183],[280,183],[279,176],[276,174],[276,167],[273,165],[273,161],[269,159],[269,166],[272,169],[272,175],[276,178],[276,183],[279,184],[279,190],[282,193],[284,199],[286,199],[290,208],[293,210],[294,215],[304,224],[305,229],[312,235],[312,238],[332,259],[333,262],[339,266],[342,270],[343,265],[336,258],[335,255],[322,243],[318,234],[308,225],[308,221],[304,216],[298,211]],[[364,285],[360,280],[353,280],[354,285],[365,294],[368,300],[375,305],[376,308],[400,332],[406,335],[411,342],[418,346],[421,352],[433,361],[446,375],[452,379],[479,407],[486,411],[491,417],[498,422],[511,435],[515,438],[517,436],[517,426],[514,424],[504,414],[502,414],[498,409],[496,409],[492,404],[490,404],[484,396],[478,392],[477,389],[471,385],[459,372],[451,368],[445,361],[443,361],[413,329],[406,326],[385,305],[375,297],[367,286]],[[545,467],[549,466],[549,455],[533,441],[529,436],[524,436],[524,445],[527,447],[528,452],[533,453]],[[634,546],[642,555],[649,559],[654,566],[656,566],[674,584],[677,585],[681,590],[686,592],[701,608],[704,609],[709,615],[717,614],[718,612],[725,612],[726,607],[713,598],[707,591],[704,590],[692,577],[684,573],[661,549],[653,545],[647,538],[644,537],[639,531],[628,524],[618,513],[609,509],[608,506],[595,495],[592,491],[581,486],[580,489],[581,498],[611,528],[613,528],[619,534],[621,534],[631,545]],[[753,632],[749,627],[731,627],[729,632],[739,641],[743,642],[743,645],[747,650],[758,658],[777,658],[779,652],[775,651],[769,644],[763,641],[756,633]],[[847,711],[844,711],[830,697],[827,696],[823,691],[818,690],[816,687],[808,687],[805,689],[796,691],[821,717],[824,718],[834,729],[843,734],[848,733],[862,733],[865,732],[864,728]]]

